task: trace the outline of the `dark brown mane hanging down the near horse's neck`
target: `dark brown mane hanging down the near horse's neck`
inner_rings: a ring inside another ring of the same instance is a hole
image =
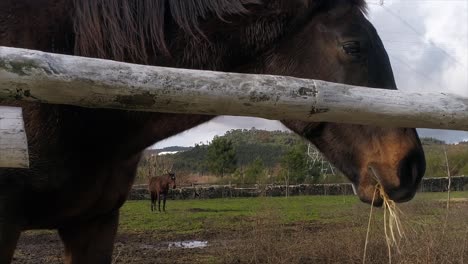
[[[365,0],[346,0],[365,10]],[[168,56],[166,30],[176,24],[191,37],[204,36],[199,20],[248,14],[248,5],[327,6],[340,0],[73,0],[75,54],[148,63]],[[365,12],[365,11],[364,11]]]

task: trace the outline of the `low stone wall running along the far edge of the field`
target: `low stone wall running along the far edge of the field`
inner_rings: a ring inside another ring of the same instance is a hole
[[[448,178],[424,178],[420,187],[422,192],[447,191]],[[452,191],[468,190],[467,176],[452,177]],[[168,199],[211,199],[227,197],[258,197],[258,196],[286,196],[289,195],[347,195],[353,194],[350,183],[343,184],[300,184],[290,185],[262,185],[253,188],[236,188],[228,185],[182,187],[170,190]],[[146,186],[135,186],[129,195],[129,200],[149,200]]]

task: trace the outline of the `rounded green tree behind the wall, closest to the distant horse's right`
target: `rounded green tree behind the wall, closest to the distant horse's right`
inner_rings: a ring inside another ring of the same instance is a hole
[[[206,162],[210,171],[223,177],[236,169],[236,151],[231,140],[215,137],[208,146]]]

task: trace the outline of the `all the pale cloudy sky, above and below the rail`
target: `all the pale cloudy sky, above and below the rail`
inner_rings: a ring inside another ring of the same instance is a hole
[[[468,97],[468,0],[368,0],[369,19],[389,53],[400,90],[446,91]],[[236,128],[286,130],[259,118],[221,116],[157,143],[193,146]],[[468,140],[468,132],[419,129],[423,137]]]

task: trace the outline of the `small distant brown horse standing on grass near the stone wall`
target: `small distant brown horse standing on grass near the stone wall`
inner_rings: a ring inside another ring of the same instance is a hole
[[[161,196],[163,197],[163,211],[166,211],[166,197],[171,184],[172,189],[175,189],[175,173],[173,172],[168,172],[166,174],[150,178],[148,182],[148,190],[151,195],[151,211],[154,211],[156,209],[157,201],[158,211],[161,212]]]

